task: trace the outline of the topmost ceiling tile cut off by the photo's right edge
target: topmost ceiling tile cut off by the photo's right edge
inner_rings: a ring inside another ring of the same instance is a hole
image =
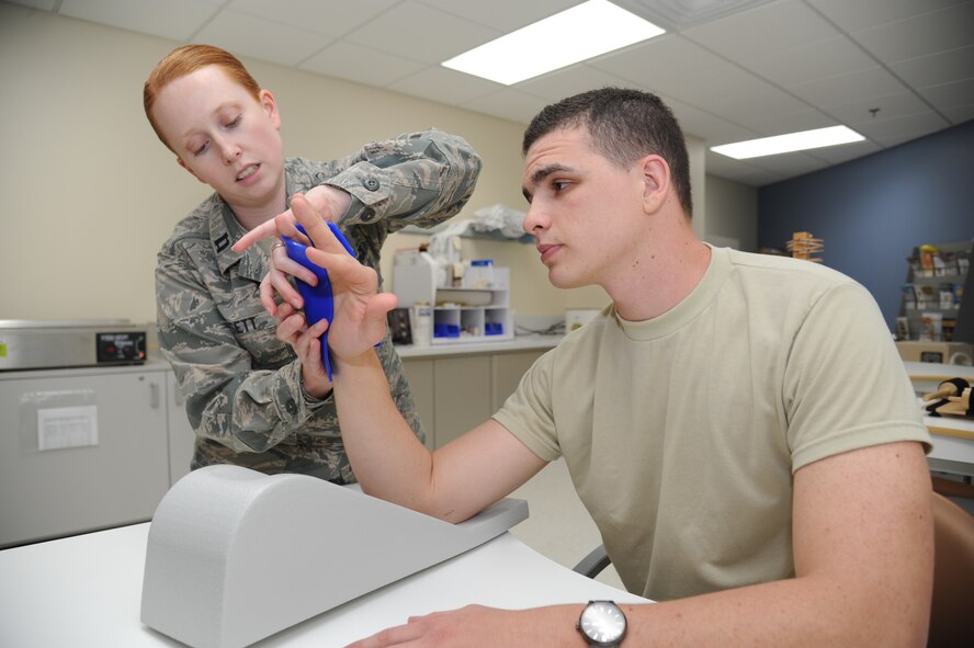
[[[974,2],[857,31],[852,36],[882,60],[895,62],[971,44]]]

